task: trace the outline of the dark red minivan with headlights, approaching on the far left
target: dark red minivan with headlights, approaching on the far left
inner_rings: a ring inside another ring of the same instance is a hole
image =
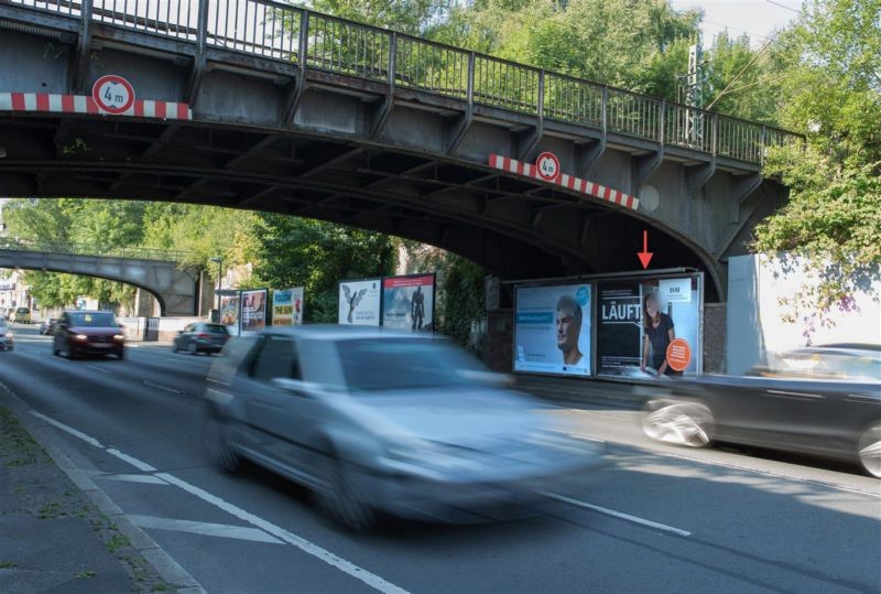
[[[126,357],[126,337],[112,312],[66,311],[55,323],[53,353],[76,358],[83,355]]]

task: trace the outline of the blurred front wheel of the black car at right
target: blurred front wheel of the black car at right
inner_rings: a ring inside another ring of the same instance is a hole
[[[642,418],[646,436],[688,447],[706,447],[713,441],[713,412],[697,402],[649,402]]]

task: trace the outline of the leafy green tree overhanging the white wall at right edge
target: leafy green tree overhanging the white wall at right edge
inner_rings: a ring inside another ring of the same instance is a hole
[[[813,0],[785,44],[784,126],[806,147],[770,155],[788,203],[757,229],[755,248],[807,256],[819,284],[793,296],[791,317],[828,323],[881,276],[881,0]]]

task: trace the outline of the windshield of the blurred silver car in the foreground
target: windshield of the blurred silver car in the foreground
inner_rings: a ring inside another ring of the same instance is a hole
[[[461,386],[465,380],[458,371],[479,367],[436,339],[359,338],[342,341],[337,349],[350,391]]]

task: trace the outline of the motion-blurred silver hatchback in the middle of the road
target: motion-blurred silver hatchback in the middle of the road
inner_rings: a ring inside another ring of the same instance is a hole
[[[208,376],[215,460],[306,485],[354,528],[378,512],[483,521],[598,463],[540,404],[447,341],[354,326],[273,328],[228,343]]]

